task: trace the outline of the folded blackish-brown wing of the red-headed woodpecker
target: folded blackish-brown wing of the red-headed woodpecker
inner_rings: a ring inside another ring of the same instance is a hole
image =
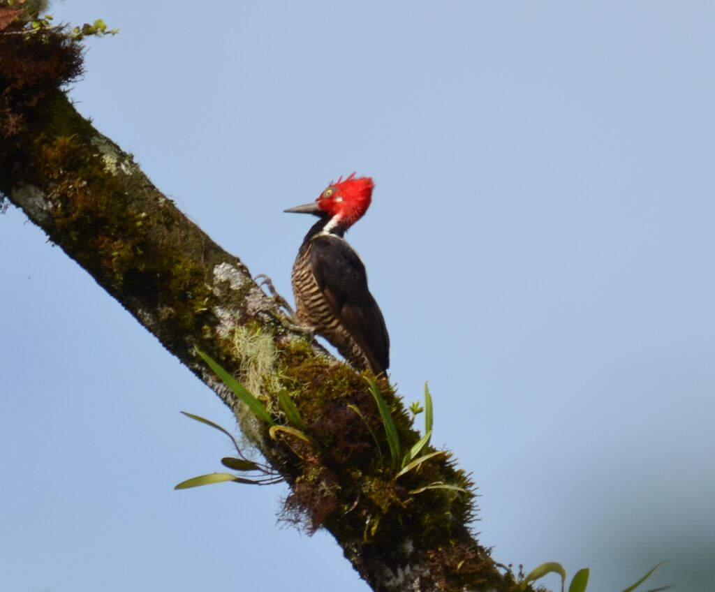
[[[310,267],[318,287],[342,325],[360,345],[375,374],[390,366],[390,337],[383,313],[368,290],[360,256],[338,237],[312,241]]]

